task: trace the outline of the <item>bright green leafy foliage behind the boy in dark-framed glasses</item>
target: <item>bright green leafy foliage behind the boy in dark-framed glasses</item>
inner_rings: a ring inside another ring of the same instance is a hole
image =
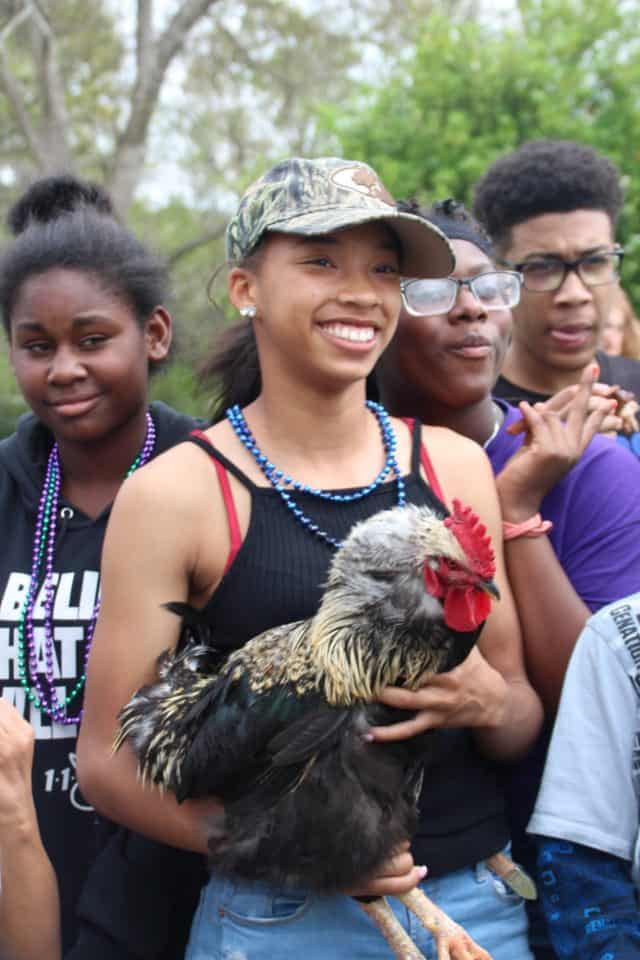
[[[453,196],[526,140],[592,144],[618,164],[624,283],[640,304],[640,3],[520,0],[502,21],[434,13],[384,87],[362,87],[324,121],[396,196]],[[399,51],[400,54],[400,51]]]

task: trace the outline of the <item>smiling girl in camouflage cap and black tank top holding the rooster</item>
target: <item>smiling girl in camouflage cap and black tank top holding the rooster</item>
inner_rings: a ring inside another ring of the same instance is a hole
[[[99,809],[203,851],[215,800],[204,810],[193,800],[179,806],[140,785],[128,748],[112,750],[119,710],[178,638],[179,621],[163,605],[188,600],[238,647],[312,616],[333,552],[355,522],[398,503],[446,509],[427,476],[432,484],[439,477],[447,499],[469,503],[495,537],[502,595],[483,652],[473,656],[482,697],[469,710],[460,692],[439,722],[473,722],[488,751],[509,756],[526,749],[541,716],[524,676],[483,452],[365,403],[367,375],[396,328],[400,276],[442,277],[453,266],[442,234],[399,212],[364,164],[293,159],[248,189],[227,250],[229,295],[243,326],[234,362],[226,354],[217,363],[243,406],[230,396],[219,422],[132,477],[118,497],[79,744],[81,783]],[[456,675],[457,689],[465,677],[464,669]],[[500,835],[495,849],[501,843]],[[386,943],[349,897],[235,884],[212,866],[189,960],[386,956]],[[379,876],[362,878],[358,892],[406,892],[425,872],[399,850]]]

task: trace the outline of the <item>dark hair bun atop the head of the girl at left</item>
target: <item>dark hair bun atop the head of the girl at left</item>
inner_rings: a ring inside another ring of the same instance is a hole
[[[97,183],[80,180],[71,174],[36,180],[11,207],[7,225],[14,236],[32,223],[49,223],[81,207],[114,216],[109,194]]]

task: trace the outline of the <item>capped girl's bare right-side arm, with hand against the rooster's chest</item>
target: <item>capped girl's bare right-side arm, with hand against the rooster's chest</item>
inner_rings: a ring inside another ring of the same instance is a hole
[[[473,727],[482,748],[498,759],[526,752],[542,724],[542,707],[524,665],[518,615],[506,572],[502,517],[491,466],[477,444],[449,430],[424,429],[436,474],[449,504],[471,506],[491,536],[497,602],[477,646],[459,667],[430,677],[417,692],[388,687],[382,701],[413,711],[405,722],[375,728],[377,740],[401,740],[431,727]],[[452,449],[454,448],[454,449]],[[468,478],[473,477],[473,484]]]

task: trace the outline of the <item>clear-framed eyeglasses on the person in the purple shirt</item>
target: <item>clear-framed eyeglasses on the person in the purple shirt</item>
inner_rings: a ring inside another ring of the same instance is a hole
[[[403,280],[400,284],[407,313],[433,317],[448,313],[458,299],[460,287],[467,287],[485,310],[508,310],[520,300],[522,277],[514,270],[492,270],[458,280]]]

